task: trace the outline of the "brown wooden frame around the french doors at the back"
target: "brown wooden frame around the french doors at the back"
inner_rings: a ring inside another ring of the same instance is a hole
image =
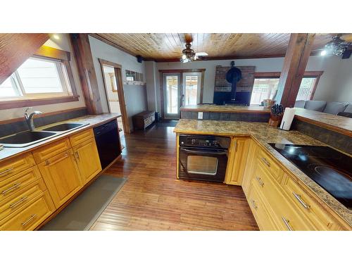
[[[164,73],[180,73],[180,88],[182,90],[183,85],[183,75],[182,73],[201,73],[201,94],[199,98],[199,103],[203,103],[203,91],[204,91],[204,76],[205,76],[206,69],[171,69],[171,70],[159,70],[160,73],[160,95],[161,95],[161,117],[164,118],[164,90],[163,90],[163,74]],[[182,100],[182,99],[180,99]],[[181,103],[180,103],[181,106]],[[180,111],[181,115],[181,111]]]

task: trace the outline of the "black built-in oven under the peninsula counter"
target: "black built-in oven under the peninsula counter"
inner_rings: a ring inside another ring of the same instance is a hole
[[[206,182],[224,182],[229,137],[180,134],[179,178]]]

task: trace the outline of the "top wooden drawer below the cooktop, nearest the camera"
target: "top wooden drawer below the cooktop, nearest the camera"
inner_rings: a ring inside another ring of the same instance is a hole
[[[301,210],[303,215],[308,218],[318,230],[339,230],[337,222],[330,218],[329,213],[322,209],[301,187],[285,175],[284,191],[287,198],[294,203],[297,210]]]

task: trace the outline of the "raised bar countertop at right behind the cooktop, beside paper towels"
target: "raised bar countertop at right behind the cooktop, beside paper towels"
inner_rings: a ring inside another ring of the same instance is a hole
[[[315,125],[326,127],[339,133],[347,134],[352,137],[352,118],[332,115],[318,111],[311,111],[304,108],[294,108],[298,120],[311,122]]]

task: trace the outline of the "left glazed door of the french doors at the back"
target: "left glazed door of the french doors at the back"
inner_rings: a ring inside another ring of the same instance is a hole
[[[163,74],[164,118],[180,118],[181,103],[181,75],[180,73]]]

